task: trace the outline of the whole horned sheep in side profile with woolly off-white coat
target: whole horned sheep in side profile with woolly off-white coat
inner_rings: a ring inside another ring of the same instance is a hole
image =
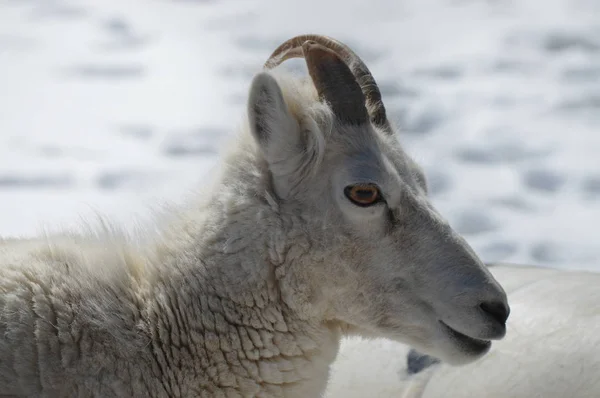
[[[310,79],[274,69],[291,57]],[[504,290],[431,205],[354,52],[286,41],[247,113],[156,242],[0,243],[0,394],[319,397],[343,336],[455,365],[504,337]]]

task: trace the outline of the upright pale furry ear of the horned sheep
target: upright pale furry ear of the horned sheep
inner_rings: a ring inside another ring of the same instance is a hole
[[[254,77],[248,98],[250,130],[273,175],[276,193],[285,198],[295,185],[303,150],[300,126],[290,114],[277,81],[268,73]]]

